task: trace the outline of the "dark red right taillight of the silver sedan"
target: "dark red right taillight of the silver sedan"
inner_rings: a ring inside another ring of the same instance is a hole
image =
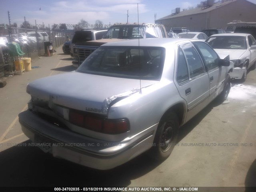
[[[120,134],[130,130],[126,119],[107,119],[78,110],[69,111],[69,121],[74,125],[106,134]]]

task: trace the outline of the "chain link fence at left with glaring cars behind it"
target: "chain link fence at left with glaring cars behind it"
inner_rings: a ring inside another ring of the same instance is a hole
[[[25,54],[23,57],[37,58],[47,54],[47,48],[50,53],[54,54],[55,49],[67,40],[70,40],[70,32],[53,32],[44,30],[31,30],[24,28],[12,28],[12,34],[8,34],[1,30],[0,33],[0,77],[10,74],[15,70],[13,54],[8,43],[16,42],[20,46],[20,50]],[[7,43],[7,44],[6,44]]]

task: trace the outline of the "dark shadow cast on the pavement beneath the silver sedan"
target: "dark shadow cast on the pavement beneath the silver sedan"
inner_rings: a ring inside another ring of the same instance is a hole
[[[182,126],[182,140],[218,103],[212,102],[188,124]],[[124,187],[131,180],[144,176],[162,162],[151,160],[142,154],[112,170],[94,170],[45,154],[39,148],[14,146],[0,152],[0,186],[114,186]],[[26,146],[24,146],[26,145]]]

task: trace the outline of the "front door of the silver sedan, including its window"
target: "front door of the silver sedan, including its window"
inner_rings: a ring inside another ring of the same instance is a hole
[[[219,65],[218,54],[205,42],[193,42],[203,58],[210,80],[210,100],[222,91],[227,68]]]

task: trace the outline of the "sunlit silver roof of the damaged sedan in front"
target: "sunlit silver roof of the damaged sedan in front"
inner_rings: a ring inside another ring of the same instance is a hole
[[[109,42],[102,46],[152,46],[152,47],[170,47],[178,42],[190,42],[189,39],[180,38],[145,38],[145,39],[132,39],[118,42]],[[140,43],[140,44],[139,44]]]

